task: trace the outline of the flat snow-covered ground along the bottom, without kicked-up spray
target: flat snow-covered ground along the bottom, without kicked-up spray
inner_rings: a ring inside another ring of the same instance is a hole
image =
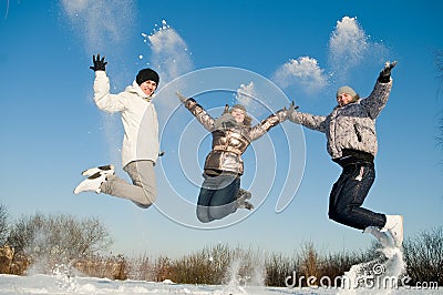
[[[0,275],[0,294],[443,294],[437,289],[337,289],[264,286],[181,285],[63,275]]]

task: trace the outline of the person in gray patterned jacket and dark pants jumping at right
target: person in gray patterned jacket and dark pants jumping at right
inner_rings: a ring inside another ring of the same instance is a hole
[[[290,108],[289,120],[326,133],[328,153],[343,170],[333,184],[329,199],[329,217],[338,223],[372,233],[388,243],[389,232],[395,243],[403,242],[403,216],[385,215],[362,207],[374,179],[378,151],[375,119],[384,108],[392,88],[391,70],[396,62],[387,62],[372,93],[360,99],[350,87],[337,91],[338,105],[327,115],[312,115]]]

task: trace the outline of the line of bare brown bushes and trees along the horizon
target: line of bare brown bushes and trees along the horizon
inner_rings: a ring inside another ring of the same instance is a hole
[[[0,205],[0,273],[54,274],[138,279],[181,284],[258,284],[285,286],[297,272],[309,277],[339,277],[352,265],[383,261],[375,242],[365,251],[320,253],[305,243],[293,255],[244,250],[217,244],[177,258],[126,257],[110,254],[113,240],[96,218],[35,213],[10,222]],[[3,246],[1,246],[3,245]],[[403,244],[411,284],[434,282],[443,286],[443,226],[408,237]]]

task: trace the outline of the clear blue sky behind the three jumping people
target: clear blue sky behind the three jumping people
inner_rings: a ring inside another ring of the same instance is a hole
[[[442,225],[436,138],[443,98],[434,54],[443,49],[441,11],[440,1],[1,0],[0,203],[13,218],[35,212],[99,217],[115,253],[174,256],[217,243],[288,254],[306,242],[326,252],[365,248],[370,236],[328,220],[340,169],[326,152],[324,135],[290,122],[245,154],[243,184],[254,194],[253,214],[236,213],[230,226],[197,228],[192,204],[209,138],[172,91],[195,95],[200,80],[212,80],[217,91],[196,99],[215,116],[225,103],[240,101],[257,122],[290,100],[300,111],[328,114],[338,87],[367,96],[384,61],[396,60],[393,90],[378,119],[377,180],[365,206],[403,214],[406,238]],[[142,68],[161,73],[155,103],[166,155],[156,166],[157,207],[72,193],[90,166],[112,162],[126,177],[119,115],[103,114],[92,101],[89,67],[99,52],[115,93]],[[209,79],[214,67],[228,72]],[[168,83],[195,71],[200,75]],[[229,81],[229,73],[240,79]],[[287,206],[277,213],[279,200]]]

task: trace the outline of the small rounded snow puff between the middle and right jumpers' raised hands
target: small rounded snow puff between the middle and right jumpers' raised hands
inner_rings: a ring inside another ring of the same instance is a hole
[[[308,93],[318,92],[328,84],[324,70],[309,57],[289,60],[277,69],[272,80],[282,88],[296,85]]]

